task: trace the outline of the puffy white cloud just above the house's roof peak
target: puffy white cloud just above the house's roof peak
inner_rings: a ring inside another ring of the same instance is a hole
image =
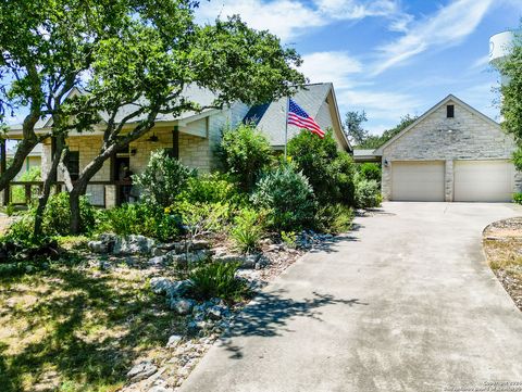
[[[362,71],[362,65],[346,52],[315,52],[302,56],[299,71],[311,83],[332,81],[336,89],[349,86],[349,75]]]

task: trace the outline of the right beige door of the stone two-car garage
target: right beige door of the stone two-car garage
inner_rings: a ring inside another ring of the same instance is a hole
[[[455,161],[456,202],[509,202],[514,166],[508,161]]]

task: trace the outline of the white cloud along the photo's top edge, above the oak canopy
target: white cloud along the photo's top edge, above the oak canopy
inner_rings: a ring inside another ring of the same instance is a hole
[[[357,21],[380,16],[403,17],[398,0],[222,0],[202,2],[196,12],[200,23],[238,14],[250,27],[268,29],[283,41],[335,21]]]

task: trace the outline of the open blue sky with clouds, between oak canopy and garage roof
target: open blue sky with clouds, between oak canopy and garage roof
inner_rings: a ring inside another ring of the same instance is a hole
[[[453,93],[498,121],[489,37],[519,26],[522,0],[211,0],[198,18],[239,14],[296,48],[311,81],[333,81],[341,113],[374,134]]]

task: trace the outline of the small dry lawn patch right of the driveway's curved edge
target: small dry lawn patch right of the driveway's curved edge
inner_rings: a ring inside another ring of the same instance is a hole
[[[487,262],[522,311],[522,218],[496,222],[484,230]]]

